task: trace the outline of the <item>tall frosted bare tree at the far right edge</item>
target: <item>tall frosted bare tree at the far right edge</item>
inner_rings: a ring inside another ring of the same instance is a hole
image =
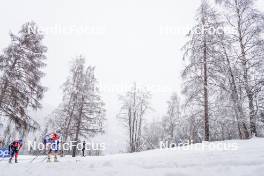
[[[224,4],[239,79],[247,97],[250,132],[256,134],[257,101],[263,86],[264,16],[254,7],[255,0],[216,0]]]

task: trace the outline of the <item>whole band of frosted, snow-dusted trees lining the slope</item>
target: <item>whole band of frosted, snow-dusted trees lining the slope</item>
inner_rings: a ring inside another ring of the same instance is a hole
[[[170,93],[166,114],[149,117],[155,93],[137,82],[117,95],[120,111],[114,116],[126,131],[124,152],[159,149],[160,141],[178,145],[264,136],[264,12],[254,0],[203,0],[192,16],[195,24],[186,32],[184,54],[175,58],[185,63],[182,89]],[[73,59],[61,85],[61,103],[40,124],[32,112],[42,108],[49,90],[42,79],[50,46],[37,21],[25,22],[9,36],[0,55],[1,145],[18,137],[42,142],[54,131],[62,143],[105,135],[108,109],[97,66],[81,54],[68,56]],[[75,157],[78,151],[65,154]]]

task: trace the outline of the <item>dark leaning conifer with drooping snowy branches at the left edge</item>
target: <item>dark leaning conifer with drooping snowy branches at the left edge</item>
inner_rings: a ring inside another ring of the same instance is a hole
[[[11,33],[11,44],[0,56],[0,111],[3,116],[24,130],[37,128],[28,110],[41,108],[46,88],[44,76],[47,47],[44,36],[34,22],[25,23],[17,35]]]

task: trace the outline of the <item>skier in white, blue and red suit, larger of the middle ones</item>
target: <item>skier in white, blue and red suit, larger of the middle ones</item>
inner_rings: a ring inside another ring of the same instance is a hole
[[[54,162],[58,161],[57,153],[59,151],[60,136],[57,133],[51,133],[45,136],[44,144],[48,150],[48,162],[51,160],[51,155],[54,155]]]

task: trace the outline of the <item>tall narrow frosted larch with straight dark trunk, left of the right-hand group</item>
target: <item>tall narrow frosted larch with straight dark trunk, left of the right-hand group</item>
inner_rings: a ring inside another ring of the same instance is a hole
[[[189,59],[182,77],[184,79],[184,94],[186,106],[191,107],[189,117],[196,118],[199,126],[203,126],[204,140],[210,140],[209,132],[209,98],[214,93],[214,68],[216,67],[216,52],[218,38],[215,30],[221,25],[218,14],[207,1],[202,1],[196,16],[197,24],[188,34],[189,41],[184,46],[184,58]],[[210,91],[210,92],[209,92]],[[201,124],[201,119],[203,124]]]

